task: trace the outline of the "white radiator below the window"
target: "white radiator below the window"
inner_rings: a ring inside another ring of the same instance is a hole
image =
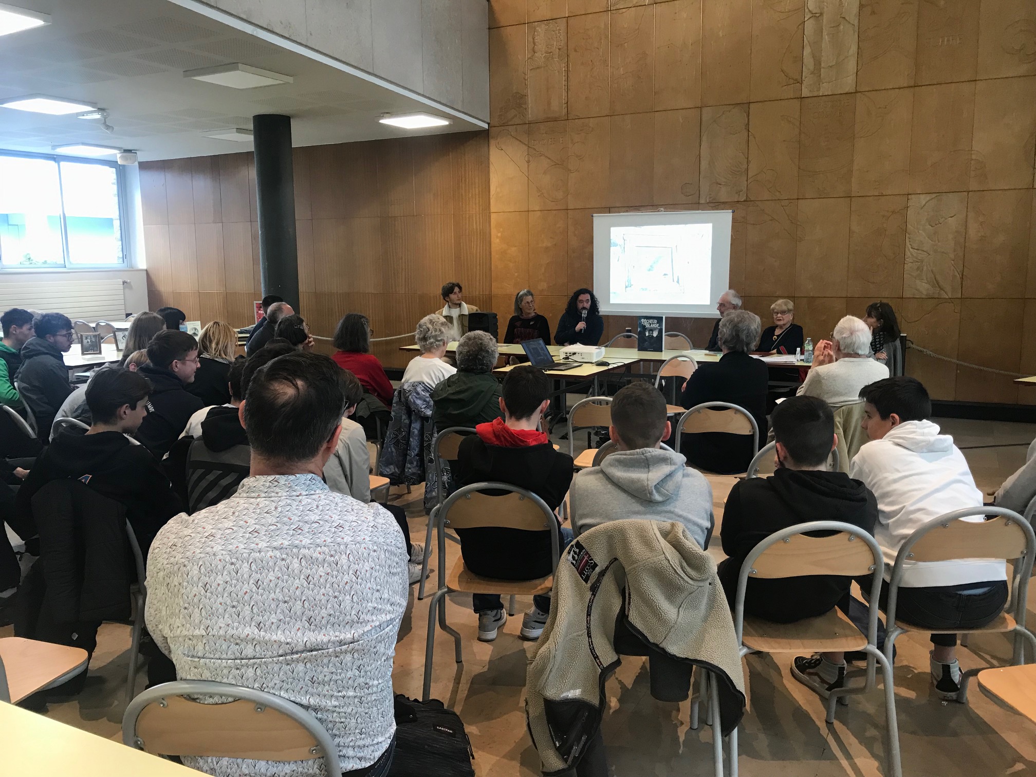
[[[121,321],[126,317],[122,283],[118,279],[69,281],[48,278],[33,283],[0,280],[0,311],[26,308],[40,313],[64,313],[73,321]]]

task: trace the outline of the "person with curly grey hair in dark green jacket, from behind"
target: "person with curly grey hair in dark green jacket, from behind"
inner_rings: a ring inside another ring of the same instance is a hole
[[[452,426],[473,429],[503,418],[500,384],[493,375],[499,356],[496,341],[486,332],[469,332],[457,344],[457,372],[432,392],[438,431]]]

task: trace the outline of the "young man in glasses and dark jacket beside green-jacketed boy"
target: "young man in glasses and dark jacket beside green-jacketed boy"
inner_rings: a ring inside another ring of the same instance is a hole
[[[45,313],[35,322],[36,336],[22,346],[22,366],[16,381],[22,400],[36,420],[36,433],[47,439],[61,403],[71,394],[68,368],[61,354],[76,340],[68,316]]]

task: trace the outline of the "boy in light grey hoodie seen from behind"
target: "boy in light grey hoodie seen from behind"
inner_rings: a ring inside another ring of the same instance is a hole
[[[578,472],[569,491],[575,536],[607,521],[679,521],[702,548],[714,525],[712,486],[687,460],[662,448],[672,427],[665,398],[651,383],[630,383],[611,401],[608,432],[618,450]]]

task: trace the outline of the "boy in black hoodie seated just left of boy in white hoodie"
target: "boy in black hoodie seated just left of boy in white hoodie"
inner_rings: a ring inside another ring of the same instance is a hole
[[[873,533],[877,521],[874,495],[844,472],[827,471],[828,457],[838,442],[834,414],[816,397],[792,397],[774,409],[777,470],[771,478],[750,478],[735,485],[723,511],[723,552],[720,582],[733,608],[741,565],[761,540],[780,529],[808,521],[841,521]],[[853,580],[839,575],[803,575],[772,580],[749,579],[745,613],[775,623],[794,623],[848,607]],[[822,673],[829,690],[839,687],[845,662],[796,659],[796,671]],[[803,668],[801,662],[806,662]],[[835,685],[832,685],[835,684]]]

